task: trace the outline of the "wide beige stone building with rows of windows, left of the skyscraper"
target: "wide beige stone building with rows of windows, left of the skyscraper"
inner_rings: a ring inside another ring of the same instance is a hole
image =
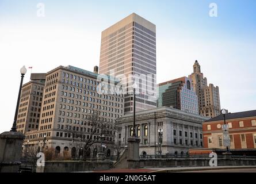
[[[104,123],[105,129],[97,130],[93,139],[98,139],[103,133],[104,144],[113,145],[114,123],[124,114],[124,99],[121,94],[105,94],[106,84],[102,84],[102,78],[99,80],[98,76],[97,73],[72,66],[59,66],[47,72],[39,128],[38,131],[26,133],[24,145],[52,147],[57,154],[65,150],[72,155],[83,148],[83,141],[79,143],[79,140],[90,138],[90,120],[95,113],[98,114],[98,126]],[[90,152],[94,154],[100,151],[100,143],[93,149]]]

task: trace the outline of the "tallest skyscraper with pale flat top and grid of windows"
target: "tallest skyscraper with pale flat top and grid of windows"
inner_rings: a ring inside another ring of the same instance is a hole
[[[101,33],[100,74],[120,79],[125,90],[124,112],[156,107],[156,28],[132,13]]]

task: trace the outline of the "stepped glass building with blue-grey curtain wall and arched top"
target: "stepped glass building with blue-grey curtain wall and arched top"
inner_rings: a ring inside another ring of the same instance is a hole
[[[158,107],[172,106],[175,109],[198,114],[198,99],[191,79],[182,77],[158,85]]]

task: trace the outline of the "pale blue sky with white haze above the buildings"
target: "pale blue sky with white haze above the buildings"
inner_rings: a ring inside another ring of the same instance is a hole
[[[12,127],[22,66],[33,67],[24,83],[30,72],[60,65],[93,71],[102,30],[131,13],[156,25],[157,83],[188,76],[198,60],[208,83],[219,86],[221,108],[256,109],[254,0],[0,0],[0,133]]]

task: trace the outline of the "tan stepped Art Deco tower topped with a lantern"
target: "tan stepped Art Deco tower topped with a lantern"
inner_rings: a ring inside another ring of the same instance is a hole
[[[197,62],[193,66],[194,72],[189,75],[198,96],[199,114],[204,117],[215,117],[220,114],[220,94],[219,87],[212,84],[207,85],[207,78],[201,73],[200,64]]]

